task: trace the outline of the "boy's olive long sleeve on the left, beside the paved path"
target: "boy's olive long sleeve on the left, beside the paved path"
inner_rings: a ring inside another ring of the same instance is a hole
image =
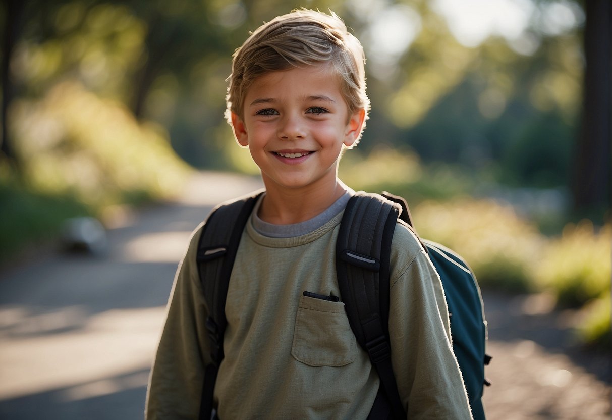
[[[168,301],[165,326],[149,377],[145,418],[197,419],[208,356],[204,326],[207,308],[200,287],[196,252],[201,227],[179,264]]]

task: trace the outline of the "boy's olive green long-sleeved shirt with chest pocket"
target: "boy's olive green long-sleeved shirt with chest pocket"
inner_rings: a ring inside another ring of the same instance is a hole
[[[247,223],[225,307],[225,359],[215,384],[220,419],[367,418],[379,378],[343,302],[302,295],[340,296],[335,239],[342,214],[293,238],[263,236]],[[198,418],[209,361],[196,264],[200,233],[174,280],[147,392],[149,420]],[[400,222],[390,261],[392,365],[408,418],[471,419],[441,282]]]

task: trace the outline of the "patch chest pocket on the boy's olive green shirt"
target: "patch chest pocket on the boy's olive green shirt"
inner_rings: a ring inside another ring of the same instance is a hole
[[[358,352],[343,302],[300,296],[291,346],[294,359],[308,366],[345,366]]]

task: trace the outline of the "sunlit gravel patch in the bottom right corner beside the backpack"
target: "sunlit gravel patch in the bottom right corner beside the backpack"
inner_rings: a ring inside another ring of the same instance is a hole
[[[501,337],[500,337],[501,338]],[[610,386],[565,354],[532,340],[489,340],[493,358],[483,394],[490,419],[597,419],[610,417]],[[503,388],[503,389],[501,389]]]

